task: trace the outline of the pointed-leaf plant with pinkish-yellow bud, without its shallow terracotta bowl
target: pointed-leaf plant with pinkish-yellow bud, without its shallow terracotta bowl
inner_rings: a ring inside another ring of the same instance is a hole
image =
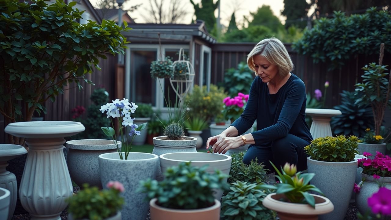
[[[307,203],[315,208],[315,198],[313,195],[310,195],[309,191],[323,195],[316,186],[309,184],[315,173],[296,173],[296,165],[288,163],[285,164],[284,168],[281,168],[281,173],[272,162],[270,163],[276,170],[278,174],[276,177],[280,180],[280,183],[276,185],[262,184],[261,188],[275,189],[276,194],[284,194],[287,199],[286,202]]]

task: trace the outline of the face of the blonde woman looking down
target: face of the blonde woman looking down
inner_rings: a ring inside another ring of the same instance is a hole
[[[262,82],[274,82],[280,78],[278,76],[278,67],[269,63],[264,56],[255,55],[253,59],[256,74],[262,79]]]

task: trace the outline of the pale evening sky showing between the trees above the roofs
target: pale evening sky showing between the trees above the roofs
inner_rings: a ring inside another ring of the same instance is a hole
[[[97,0],[90,0],[92,5],[95,7]],[[183,19],[183,22],[181,23],[190,23],[192,20],[192,16],[194,15],[194,7],[190,3],[190,0],[180,0],[181,4],[185,6],[185,8],[188,9],[189,13],[185,16]],[[201,0],[193,0],[195,4],[201,3]],[[240,20],[243,20],[243,16],[248,16],[250,12],[256,12],[258,7],[262,7],[262,5],[270,5],[271,10],[273,11],[274,15],[276,15],[280,20],[283,22],[285,20],[284,16],[281,15],[281,11],[284,8],[283,0],[220,0],[221,1],[221,24],[224,26],[228,26],[231,20],[231,14],[234,10],[235,12],[235,18],[237,23],[240,22]],[[169,5],[169,0],[165,0],[167,3],[167,6]],[[216,2],[214,0],[213,2]],[[129,13],[131,18],[136,18],[137,23],[145,23],[145,20],[140,14],[145,13],[146,9],[149,6],[149,0],[129,0],[124,4],[124,9],[129,8],[131,5],[136,4],[142,4],[143,5],[138,8],[136,11]],[[215,16],[217,17],[217,9],[215,11]],[[283,22],[284,23],[284,22]]]

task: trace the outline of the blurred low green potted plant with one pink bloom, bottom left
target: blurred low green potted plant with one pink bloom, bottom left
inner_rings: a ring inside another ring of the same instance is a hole
[[[84,184],[82,190],[68,198],[68,220],[121,220],[124,186],[118,181],[107,184],[108,189]]]

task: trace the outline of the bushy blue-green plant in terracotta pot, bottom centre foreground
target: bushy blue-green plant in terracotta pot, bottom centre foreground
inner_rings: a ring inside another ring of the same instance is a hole
[[[213,189],[228,189],[228,175],[216,170],[211,174],[191,162],[168,168],[165,179],[145,180],[140,191],[150,199],[151,219],[219,220],[220,201]]]

